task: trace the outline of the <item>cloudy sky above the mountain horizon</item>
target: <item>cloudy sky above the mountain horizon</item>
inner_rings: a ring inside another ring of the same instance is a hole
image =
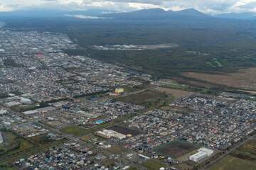
[[[0,11],[27,9],[135,11],[163,8],[179,11],[196,8],[203,13],[256,12],[256,0],[0,0]]]

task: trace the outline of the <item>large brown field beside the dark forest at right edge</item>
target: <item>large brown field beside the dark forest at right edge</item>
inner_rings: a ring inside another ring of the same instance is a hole
[[[187,72],[183,76],[209,81],[214,84],[221,84],[225,86],[233,86],[236,88],[256,90],[255,78],[256,67],[249,69],[239,69],[235,73],[227,74],[206,74]]]

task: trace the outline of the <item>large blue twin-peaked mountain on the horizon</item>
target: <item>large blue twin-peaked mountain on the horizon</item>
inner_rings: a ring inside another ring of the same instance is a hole
[[[111,17],[122,20],[167,20],[177,18],[210,18],[204,13],[190,8],[182,11],[164,11],[161,8],[142,9],[139,11],[125,12],[125,13],[110,13],[102,15],[104,17]]]

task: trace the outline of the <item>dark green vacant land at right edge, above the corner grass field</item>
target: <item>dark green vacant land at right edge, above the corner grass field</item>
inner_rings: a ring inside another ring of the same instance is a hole
[[[256,163],[256,140],[250,140],[231,153],[233,157]]]

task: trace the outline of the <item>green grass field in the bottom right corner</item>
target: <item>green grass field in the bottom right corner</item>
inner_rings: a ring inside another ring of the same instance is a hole
[[[255,170],[255,167],[255,162],[227,156],[213,164],[213,166],[210,166],[207,170]]]

